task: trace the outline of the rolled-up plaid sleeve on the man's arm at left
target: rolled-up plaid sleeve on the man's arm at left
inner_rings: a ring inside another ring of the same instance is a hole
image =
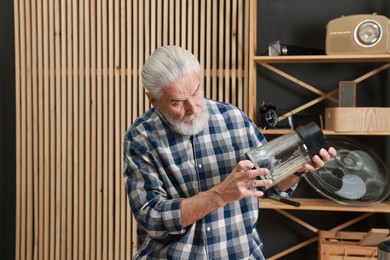
[[[137,222],[152,238],[164,239],[168,234],[181,234],[180,206],[182,198],[168,198],[158,170],[145,150],[124,142],[124,177],[130,207]]]

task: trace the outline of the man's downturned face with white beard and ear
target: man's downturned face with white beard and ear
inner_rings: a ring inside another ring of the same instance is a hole
[[[203,88],[195,71],[165,87],[158,101],[150,94],[148,97],[180,134],[197,134],[207,124],[209,115],[204,105]]]

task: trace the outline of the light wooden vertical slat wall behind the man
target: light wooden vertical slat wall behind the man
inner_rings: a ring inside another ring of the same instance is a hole
[[[207,97],[248,112],[244,0],[15,0],[16,259],[130,259],[126,129],[158,46],[192,51]]]

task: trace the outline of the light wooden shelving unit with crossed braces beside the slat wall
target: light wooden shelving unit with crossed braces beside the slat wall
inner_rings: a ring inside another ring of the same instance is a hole
[[[295,78],[292,75],[280,70],[274,64],[324,64],[324,63],[339,63],[339,64],[352,64],[352,63],[378,63],[378,67],[372,71],[368,71],[366,74],[361,75],[357,79],[353,80],[354,83],[359,83],[383,70],[390,68],[390,55],[381,54],[381,55],[308,55],[308,56],[259,56],[256,53],[256,33],[257,33],[257,1],[251,1],[251,12],[250,12],[250,61],[249,61],[249,117],[256,122],[256,97],[257,97],[257,85],[256,85],[256,75],[257,75],[257,66],[262,66],[275,73],[275,77],[284,77],[291,82],[296,83],[297,87],[303,87],[309,91],[312,91],[318,94],[318,97],[302,104],[300,107],[292,109],[289,113],[279,117],[280,120],[284,120],[288,115],[296,114],[302,110],[308,109],[312,105],[321,102],[322,100],[329,99],[335,102],[335,105],[338,106],[338,87],[335,87],[334,90],[326,93],[321,89],[309,85],[298,78]],[[340,79],[341,80],[341,79]],[[259,86],[261,88],[261,86]],[[286,134],[291,129],[267,129],[261,130],[265,135],[282,135]],[[325,135],[370,135],[370,136],[390,136],[389,131],[383,132],[335,132],[324,130]],[[278,213],[286,216],[287,218],[295,221],[297,224],[310,229],[315,233],[311,239],[308,239],[304,242],[298,243],[295,246],[287,248],[286,250],[268,258],[279,259],[280,257],[289,254],[293,251],[296,251],[302,247],[305,247],[313,242],[318,240],[318,229],[313,227],[307,222],[293,216],[289,211],[295,210],[306,210],[306,211],[339,211],[339,212],[361,212],[362,214],[358,217],[351,219],[337,227],[331,229],[331,231],[341,230],[349,225],[352,225],[358,221],[361,221],[369,216],[372,216],[377,213],[390,213],[390,201],[381,202],[376,205],[369,207],[351,207],[346,205],[341,205],[336,202],[330,201],[328,199],[308,199],[308,198],[296,198],[295,200],[301,203],[300,207],[294,207],[284,203],[280,203],[274,200],[263,199],[260,201],[260,210],[274,210]]]

